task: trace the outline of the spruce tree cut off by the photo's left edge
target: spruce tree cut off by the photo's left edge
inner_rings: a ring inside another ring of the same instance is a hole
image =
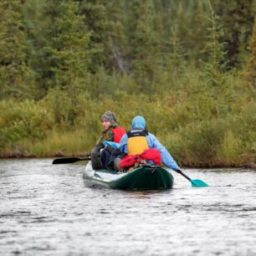
[[[23,99],[34,95],[22,6],[23,2],[19,0],[0,3],[0,99]]]

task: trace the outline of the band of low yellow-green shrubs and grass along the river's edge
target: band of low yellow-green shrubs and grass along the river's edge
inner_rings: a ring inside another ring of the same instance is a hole
[[[101,134],[101,115],[111,110],[126,131],[134,116],[143,115],[146,130],[180,166],[253,166],[253,87],[235,74],[227,74],[219,90],[206,87],[197,73],[180,83],[168,84],[165,93],[152,95],[115,90],[111,95],[92,97],[84,91],[74,107],[68,104],[68,93],[59,89],[50,90],[38,101],[0,100],[0,156],[84,156]],[[228,84],[232,86],[225,88]]]

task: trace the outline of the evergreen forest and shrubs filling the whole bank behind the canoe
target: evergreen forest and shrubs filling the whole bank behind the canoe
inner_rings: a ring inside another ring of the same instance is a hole
[[[82,156],[112,110],[182,166],[253,166],[255,0],[1,0],[0,156]]]

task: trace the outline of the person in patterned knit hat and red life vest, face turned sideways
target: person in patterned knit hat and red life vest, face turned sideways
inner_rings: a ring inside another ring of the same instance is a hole
[[[103,131],[96,142],[95,147],[91,151],[91,162],[94,169],[101,169],[105,167],[100,161],[100,155],[105,148],[105,141],[113,141],[115,143],[120,142],[120,138],[125,134],[125,129],[116,123],[115,114],[110,110],[106,111],[104,115],[101,116],[101,122],[103,126]],[[108,147],[110,148],[110,147]],[[106,148],[104,154],[104,161],[107,161],[108,150]]]

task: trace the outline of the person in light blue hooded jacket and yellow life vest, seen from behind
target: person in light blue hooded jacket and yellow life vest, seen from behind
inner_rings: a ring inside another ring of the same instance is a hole
[[[147,148],[154,148],[161,154],[161,162],[174,171],[182,171],[177,162],[172,158],[165,146],[162,146],[156,136],[146,131],[146,120],[143,116],[136,116],[131,123],[131,131],[125,133],[120,140],[120,151],[128,155],[141,154]],[[115,168],[120,169],[118,161]]]

